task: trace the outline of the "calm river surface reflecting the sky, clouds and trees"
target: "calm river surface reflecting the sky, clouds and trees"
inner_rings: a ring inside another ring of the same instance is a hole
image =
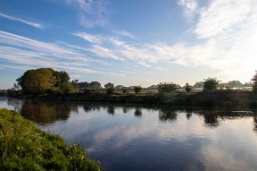
[[[257,114],[0,98],[103,170],[257,170]]]

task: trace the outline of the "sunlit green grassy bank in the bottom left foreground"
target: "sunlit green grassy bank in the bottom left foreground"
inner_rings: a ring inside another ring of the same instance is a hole
[[[0,170],[100,170],[85,152],[69,148],[19,113],[0,109]]]

